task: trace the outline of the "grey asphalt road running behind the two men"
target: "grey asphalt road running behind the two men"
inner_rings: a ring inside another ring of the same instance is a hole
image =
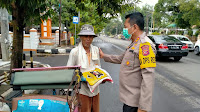
[[[124,50],[98,38],[93,44],[107,54],[121,54]],[[67,59],[67,55],[34,56],[35,61],[51,66],[65,66]],[[120,65],[106,63],[103,60],[101,65],[111,74],[114,83],[100,86],[100,112],[122,112],[123,104],[118,96]],[[173,62],[172,59],[158,61],[152,112],[200,112],[199,66],[200,56],[193,55],[192,52],[180,62]]]

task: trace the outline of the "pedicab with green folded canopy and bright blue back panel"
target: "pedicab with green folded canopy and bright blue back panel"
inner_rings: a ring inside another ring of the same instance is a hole
[[[54,95],[23,95],[13,98],[12,112],[78,112],[81,106],[80,66],[13,69],[13,90],[59,89]],[[66,90],[67,89],[67,90]],[[56,92],[56,91],[54,91]]]

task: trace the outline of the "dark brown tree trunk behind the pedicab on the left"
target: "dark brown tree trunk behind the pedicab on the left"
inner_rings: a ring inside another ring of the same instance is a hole
[[[24,10],[14,4],[13,7],[13,48],[11,57],[11,69],[22,68],[23,40],[24,40]]]

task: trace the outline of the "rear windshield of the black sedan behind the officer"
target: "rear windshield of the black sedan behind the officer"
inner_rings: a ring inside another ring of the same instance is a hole
[[[171,37],[171,36],[156,36],[154,37],[156,42],[161,42],[161,43],[165,43],[165,42],[180,42],[180,40]]]

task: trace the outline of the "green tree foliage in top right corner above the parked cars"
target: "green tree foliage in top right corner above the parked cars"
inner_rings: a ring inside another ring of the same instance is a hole
[[[198,0],[159,0],[155,5],[154,19],[157,27],[176,23],[179,28],[200,26]]]

